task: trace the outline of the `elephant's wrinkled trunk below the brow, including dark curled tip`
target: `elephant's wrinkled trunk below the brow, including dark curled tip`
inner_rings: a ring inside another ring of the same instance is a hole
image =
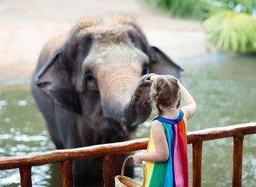
[[[127,134],[134,131],[138,124],[143,123],[151,114],[149,75],[135,76],[129,71],[111,72],[98,71],[99,92],[101,93],[102,112],[120,124],[120,131]]]

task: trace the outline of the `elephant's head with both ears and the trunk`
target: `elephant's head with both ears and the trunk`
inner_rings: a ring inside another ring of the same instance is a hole
[[[180,77],[182,71],[148,45],[131,18],[119,16],[80,20],[64,42],[53,47],[35,78],[56,104],[84,116],[91,129],[127,136],[151,112],[145,94],[150,81],[140,77],[151,72]]]

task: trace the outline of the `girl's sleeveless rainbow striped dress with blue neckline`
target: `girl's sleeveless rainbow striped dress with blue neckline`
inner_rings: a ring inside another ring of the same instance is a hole
[[[189,186],[189,161],[187,154],[187,118],[179,110],[176,120],[154,118],[162,122],[169,147],[169,159],[164,162],[146,162],[144,184],[150,187]],[[155,151],[150,133],[147,152]]]

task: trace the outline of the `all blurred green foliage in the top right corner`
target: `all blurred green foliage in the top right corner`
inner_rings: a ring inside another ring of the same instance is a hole
[[[256,53],[255,0],[143,0],[170,15],[203,21],[220,50]]]

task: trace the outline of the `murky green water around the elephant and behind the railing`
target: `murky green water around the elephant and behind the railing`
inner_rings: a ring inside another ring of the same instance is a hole
[[[225,56],[224,56],[225,58]],[[221,60],[220,60],[221,59]],[[206,58],[183,62],[182,82],[197,101],[188,131],[256,121],[256,58]],[[156,115],[154,111],[151,118]],[[138,129],[147,137],[150,120]],[[256,183],[256,135],[244,137],[243,186]],[[190,166],[192,146],[189,145]],[[29,84],[0,85],[0,156],[53,150]],[[203,186],[232,186],[233,139],[203,143]],[[192,171],[192,169],[190,168]],[[138,179],[141,169],[135,168]],[[0,186],[19,186],[18,169],[0,171]],[[33,186],[61,186],[59,164],[32,167]]]

